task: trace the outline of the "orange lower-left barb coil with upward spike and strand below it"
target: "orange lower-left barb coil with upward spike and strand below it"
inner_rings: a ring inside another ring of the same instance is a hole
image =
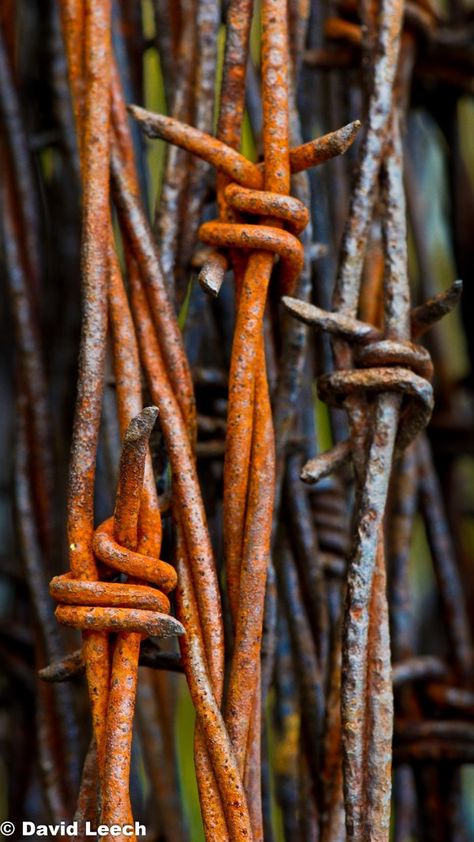
[[[101,816],[107,825],[132,822],[128,781],[140,641],[143,635],[168,637],[184,632],[177,620],[166,616],[170,607],[166,594],[176,587],[176,571],[147,555],[153,544],[159,552],[160,542],[156,523],[147,522],[142,512],[148,440],[157,413],[156,407],[146,407],[130,422],[123,439],[114,515],[94,533],[96,558],[106,568],[131,578],[130,584],[80,581],[66,573],[50,585],[51,595],[59,603],[56,617],[60,623],[86,632],[118,632],[108,665],[104,757],[99,761]],[[141,584],[143,580],[158,589]]]

